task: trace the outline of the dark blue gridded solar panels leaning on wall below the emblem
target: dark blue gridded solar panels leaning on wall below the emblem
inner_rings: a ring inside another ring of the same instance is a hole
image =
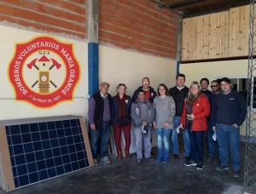
[[[5,191],[93,166],[82,117],[20,121],[0,128],[0,180]]]

